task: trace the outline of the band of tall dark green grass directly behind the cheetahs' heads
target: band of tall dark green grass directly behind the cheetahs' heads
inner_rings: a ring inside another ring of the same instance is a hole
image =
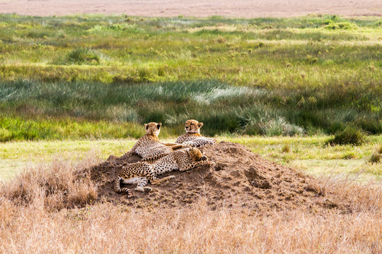
[[[156,121],[180,135],[187,119],[203,133],[313,135],[357,126],[382,132],[378,90],[238,87],[219,80],[136,85],[91,82],[0,81],[0,141],[139,138],[143,123]],[[306,98],[306,99],[304,99]],[[378,108],[378,110],[371,110]]]

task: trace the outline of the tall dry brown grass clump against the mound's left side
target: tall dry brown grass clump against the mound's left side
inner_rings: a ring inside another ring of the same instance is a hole
[[[90,156],[85,164],[93,164]],[[15,205],[35,206],[47,211],[83,207],[97,198],[96,184],[90,179],[83,162],[71,164],[54,160],[49,166],[25,171],[10,182],[0,186],[0,197]]]

